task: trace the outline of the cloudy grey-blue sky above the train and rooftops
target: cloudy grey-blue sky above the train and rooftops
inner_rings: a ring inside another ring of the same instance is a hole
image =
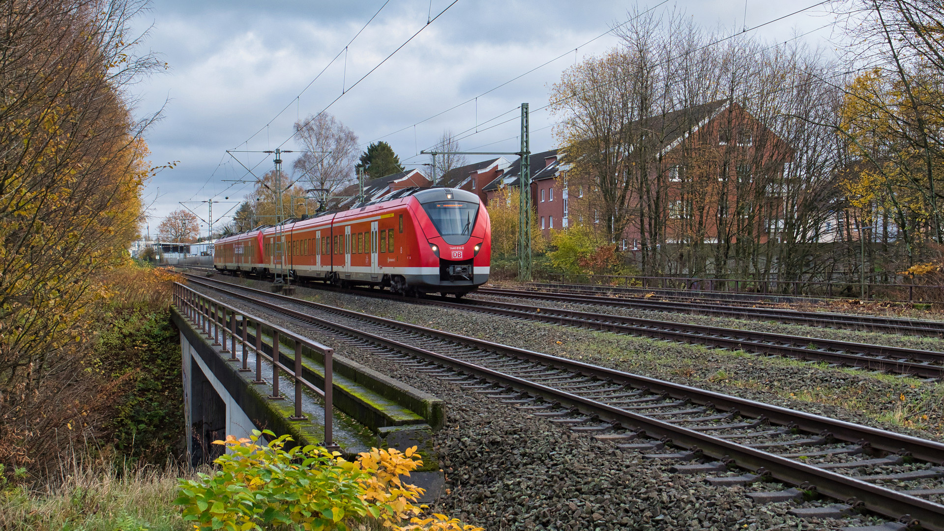
[[[162,119],[146,135],[151,161],[179,162],[148,185],[149,224],[156,226],[180,207],[179,201],[242,199],[251,184],[227,180],[253,176],[227,149],[293,149],[295,121],[324,110],[338,96],[328,111],[358,135],[363,147],[382,139],[405,163],[428,162],[418,151],[445,129],[466,137],[464,149],[487,145],[479,150],[516,151],[517,106],[545,105],[548,85],[565,67],[617,41],[607,34],[584,43],[625,22],[629,9],[647,9],[660,1],[458,0],[449,7],[453,0],[389,0],[386,5],[385,0],[153,0],[137,23],[141,30],[151,26],[145,46],[169,68],[134,87],[137,111],[143,116],[163,106]],[[682,9],[704,26],[734,31],[816,3],[669,0],[656,10]],[[803,11],[756,33],[770,43],[784,41],[831,22],[825,9]],[[829,46],[829,37],[830,28],[825,28],[804,39]],[[429,119],[442,111],[447,112]],[[548,112],[532,113],[533,151],[553,147],[550,125]],[[238,156],[256,175],[272,168],[271,155]],[[291,167],[293,155],[283,159]],[[214,204],[214,218],[235,204]],[[206,204],[188,206],[207,218]]]

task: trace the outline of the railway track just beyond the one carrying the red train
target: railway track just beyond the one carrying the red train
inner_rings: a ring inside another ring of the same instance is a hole
[[[776,320],[788,324],[802,324],[824,328],[865,330],[887,334],[916,334],[944,336],[944,322],[905,319],[901,317],[835,314],[828,312],[803,312],[784,308],[745,307],[709,304],[695,301],[644,299],[640,297],[608,297],[565,292],[536,292],[524,289],[480,287],[477,294],[493,297],[553,300],[574,304],[591,304],[635,308],[653,312],[672,312],[717,317],[736,317],[757,320]]]

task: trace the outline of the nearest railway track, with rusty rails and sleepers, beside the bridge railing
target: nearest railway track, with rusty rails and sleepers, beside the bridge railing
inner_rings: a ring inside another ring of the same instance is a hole
[[[935,441],[243,286],[191,282],[620,449],[673,459],[678,473],[704,474],[717,486],[794,486],[751,492],[755,503],[818,492],[844,503],[794,514],[867,509],[893,521],[882,529],[944,530],[944,444]]]

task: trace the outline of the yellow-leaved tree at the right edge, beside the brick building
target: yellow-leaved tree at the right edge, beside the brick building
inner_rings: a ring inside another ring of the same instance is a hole
[[[851,3],[837,131],[854,171],[843,181],[859,225],[893,227],[911,266],[944,243],[944,7],[931,0]],[[863,232],[868,241],[886,235]]]

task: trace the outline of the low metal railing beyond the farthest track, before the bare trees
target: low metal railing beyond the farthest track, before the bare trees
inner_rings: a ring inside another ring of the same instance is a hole
[[[795,297],[881,300],[892,302],[939,302],[944,285],[919,283],[860,283],[855,281],[783,281],[699,277],[647,277],[642,275],[582,275],[548,273],[548,281],[617,287],[675,289],[713,293],[744,293]],[[864,292],[864,293],[863,293]],[[905,298],[905,293],[907,297]],[[878,296],[878,297],[877,297]]]

